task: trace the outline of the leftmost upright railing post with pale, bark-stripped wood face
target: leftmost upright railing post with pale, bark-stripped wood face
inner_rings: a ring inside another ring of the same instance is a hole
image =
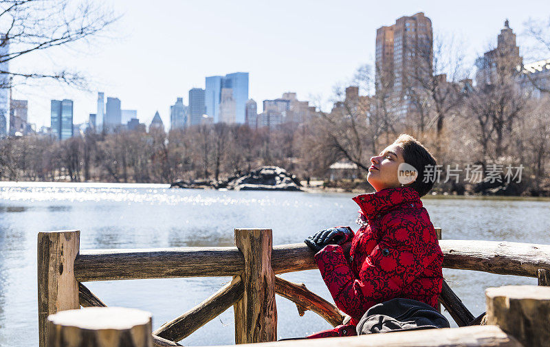
[[[48,315],[80,308],[78,282],[74,277],[74,259],[79,247],[78,230],[39,232],[37,268],[40,347],[48,346]]]

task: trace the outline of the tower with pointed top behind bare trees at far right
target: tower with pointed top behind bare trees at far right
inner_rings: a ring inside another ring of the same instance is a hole
[[[516,34],[506,20],[498,34],[496,48],[485,52],[476,60],[476,83],[492,84],[498,74],[511,76],[516,73],[516,67],[521,66],[522,62],[520,47],[516,45]]]

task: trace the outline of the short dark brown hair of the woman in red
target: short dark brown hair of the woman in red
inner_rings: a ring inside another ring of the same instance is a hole
[[[415,137],[408,134],[399,135],[394,144],[399,145],[403,150],[403,159],[405,162],[418,170],[418,177],[414,182],[410,183],[410,187],[416,190],[420,197],[423,197],[432,189],[435,183],[435,180],[428,176],[430,172],[434,172],[436,165],[432,153]],[[431,167],[432,170],[426,170],[427,167]],[[424,177],[427,178],[425,179]]]

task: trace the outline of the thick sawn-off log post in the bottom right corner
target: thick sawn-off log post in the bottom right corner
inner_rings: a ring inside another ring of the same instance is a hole
[[[550,288],[505,286],[485,290],[487,324],[498,325],[523,346],[549,346]]]

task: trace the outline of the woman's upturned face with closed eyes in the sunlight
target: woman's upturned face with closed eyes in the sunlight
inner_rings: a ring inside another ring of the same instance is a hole
[[[378,192],[386,188],[401,186],[398,177],[399,164],[404,163],[403,150],[397,144],[391,144],[380,152],[380,155],[371,157],[371,167],[366,181]]]

